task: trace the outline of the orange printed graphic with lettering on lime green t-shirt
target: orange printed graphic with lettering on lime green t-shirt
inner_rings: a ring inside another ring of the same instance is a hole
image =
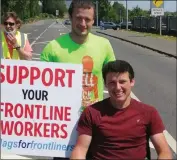
[[[92,57],[84,56],[83,64],[83,91],[82,91],[82,107],[87,107],[98,101],[98,77],[93,71],[94,62]]]

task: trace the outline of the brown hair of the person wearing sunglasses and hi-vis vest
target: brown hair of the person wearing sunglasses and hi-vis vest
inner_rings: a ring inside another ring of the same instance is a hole
[[[17,14],[15,12],[6,12],[3,16],[3,22],[5,22],[9,18],[13,18],[15,20],[15,23],[18,25],[18,29],[20,29],[22,25],[22,20],[17,16]]]

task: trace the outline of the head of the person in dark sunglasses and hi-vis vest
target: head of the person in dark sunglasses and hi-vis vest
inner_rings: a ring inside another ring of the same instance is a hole
[[[6,32],[16,32],[22,22],[15,12],[7,12],[3,18],[3,25]]]

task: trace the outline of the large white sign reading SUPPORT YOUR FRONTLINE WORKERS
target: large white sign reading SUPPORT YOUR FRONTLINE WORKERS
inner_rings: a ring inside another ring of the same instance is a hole
[[[1,151],[69,157],[80,116],[82,65],[1,60]]]

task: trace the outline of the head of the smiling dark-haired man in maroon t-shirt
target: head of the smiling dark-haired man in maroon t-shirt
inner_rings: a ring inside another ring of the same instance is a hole
[[[124,105],[130,100],[131,88],[135,84],[132,66],[123,60],[107,63],[102,70],[103,79],[111,101]]]

